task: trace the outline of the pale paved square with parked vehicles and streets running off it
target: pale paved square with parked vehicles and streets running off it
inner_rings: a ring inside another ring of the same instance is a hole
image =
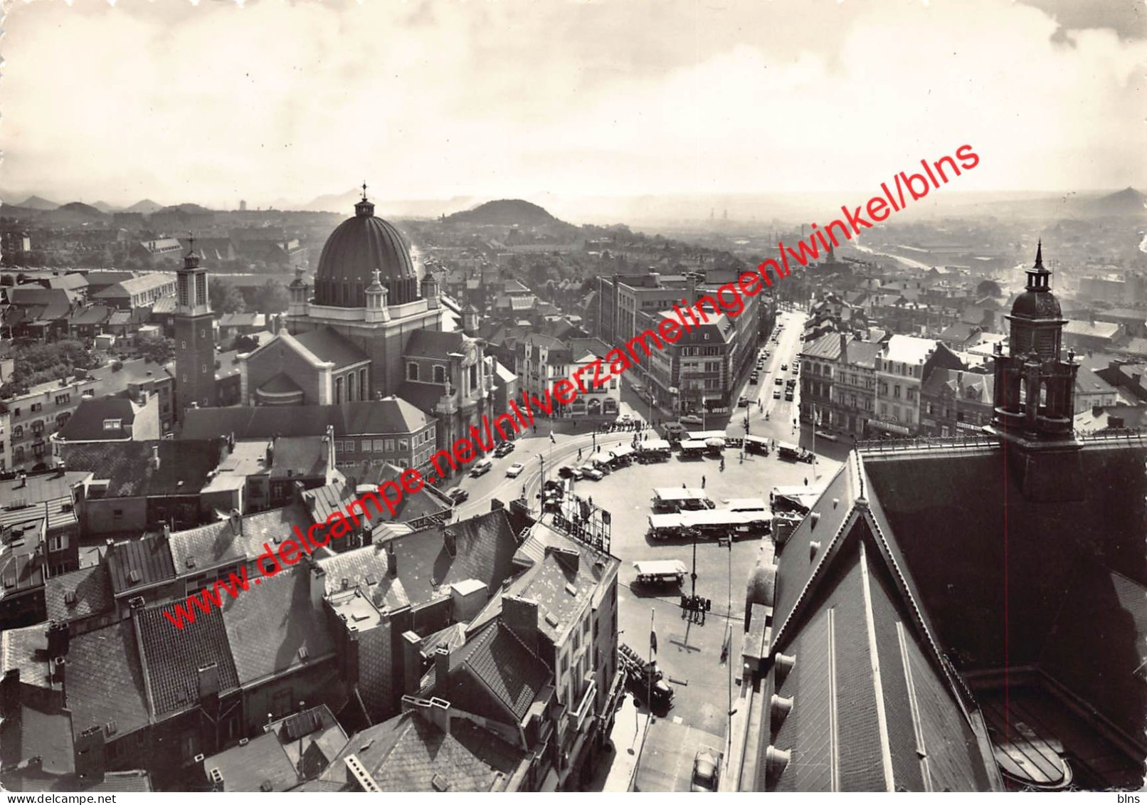
[[[734,400],[743,393],[750,397],[752,404],[734,412],[726,429],[729,436],[744,435],[744,414],[748,413],[749,432],[754,436],[785,441],[801,439],[799,430],[794,424],[799,393],[793,401],[785,401],[785,386],[775,385],[774,378],[795,376],[793,359],[801,350],[804,316],[798,312],[783,312],[779,320],[783,323],[783,329],[778,344],[773,344],[772,339],[766,343],[771,357],[760,373],[759,383],[750,385],[742,382],[734,394]],[[782,365],[787,365],[788,370],[782,370]],[[774,390],[781,391],[781,399],[773,399]],[[622,411],[637,419],[648,416],[647,409],[642,412],[627,402],[623,402]],[[567,429],[568,425],[562,428]],[[633,438],[632,431],[606,435],[575,431],[554,432],[551,439],[551,425],[541,420],[538,421],[537,430],[537,433],[532,430],[523,433],[516,443],[516,450],[508,456],[494,459],[490,472],[479,478],[466,477],[461,480],[459,485],[470,492],[470,499],[459,507],[460,517],[489,510],[491,499],[507,502],[518,498],[523,487],[531,508],[537,510],[543,463],[546,477],[553,478],[562,464],[584,463],[595,448],[609,451],[618,445],[630,444]],[[651,431],[645,432],[653,438]],[[810,438],[802,441],[804,446],[811,447],[811,432],[806,436]],[[712,540],[696,545],[692,541],[654,541],[648,536],[653,490],[682,484],[690,487],[703,486],[718,507],[732,498],[763,498],[767,501],[774,486],[825,483],[848,450],[841,443],[822,439],[818,439],[817,448],[820,454],[816,463],[795,463],[780,460],[775,452],[768,456],[746,454],[742,459],[739,451],[731,447],[725,450],[724,471],[720,470],[718,459],[682,461],[674,452],[666,462],[634,463],[598,482],[574,482],[575,494],[592,498],[596,506],[612,515],[610,553],[622,560],[618,576],[619,640],[646,656],[649,651],[651,620],[657,634],[656,659],[674,689],[673,708],[664,718],[654,719],[651,736],[658,725],[668,719],[671,724],[719,737],[721,743],[718,748],[724,750],[729,720],[728,702],[731,696],[734,700],[736,697],[735,685],[740,678],[746,585],[757,561],[771,561],[773,557],[773,545],[767,537],[732,545],[719,545]],[[825,448],[832,452],[832,458],[824,454]],[[582,460],[578,460],[578,451],[582,451]],[[525,470],[517,478],[507,478],[506,468],[515,461],[525,464]],[[696,594],[711,601],[711,610],[704,620],[694,622],[685,617],[680,609],[679,594],[693,591],[689,577],[686,577],[680,591],[664,589],[655,594],[647,589],[635,589],[633,562],[641,560],[680,560],[689,566],[690,572],[696,572]],[[726,641],[729,643],[727,655],[723,651]],[[685,767],[690,767],[692,756],[686,760],[681,763]],[[685,790],[688,790],[687,787]]]

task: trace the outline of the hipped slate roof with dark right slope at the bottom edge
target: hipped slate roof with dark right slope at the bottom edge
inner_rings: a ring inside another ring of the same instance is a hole
[[[491,791],[505,786],[523,755],[482,727],[452,718],[450,733],[415,712],[396,716],[356,733],[320,780],[346,782],[349,755],[356,755],[384,791],[436,791],[434,779],[450,791]]]

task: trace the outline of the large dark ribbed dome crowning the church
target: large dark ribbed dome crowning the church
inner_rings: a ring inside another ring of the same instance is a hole
[[[388,305],[419,299],[419,279],[398,229],[374,216],[366,198],[354,217],[340,224],[322,247],[314,274],[314,303],[333,307],[366,307],[366,289],[379,271],[389,291]]]

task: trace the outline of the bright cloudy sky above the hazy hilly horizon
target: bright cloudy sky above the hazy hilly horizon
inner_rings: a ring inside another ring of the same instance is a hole
[[[1147,186],[1142,0],[17,0],[0,189],[57,202]]]

